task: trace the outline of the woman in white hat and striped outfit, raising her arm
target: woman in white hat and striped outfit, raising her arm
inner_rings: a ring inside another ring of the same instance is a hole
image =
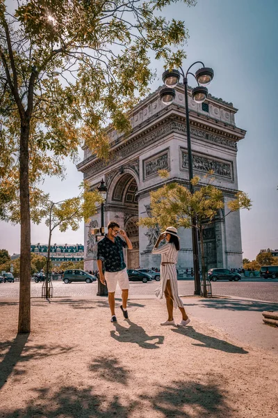
[[[158,248],[159,243],[165,239],[167,243]],[[174,226],[168,226],[166,231],[161,233],[156,241],[156,245],[152,250],[152,254],[161,254],[161,287],[156,290],[156,296],[166,298],[168,311],[168,319],[161,325],[175,325],[173,317],[173,307],[181,311],[182,319],[178,327],[185,327],[190,323],[190,319],[186,315],[183,302],[178,294],[178,282],[176,264],[179,251],[179,237],[177,229]]]

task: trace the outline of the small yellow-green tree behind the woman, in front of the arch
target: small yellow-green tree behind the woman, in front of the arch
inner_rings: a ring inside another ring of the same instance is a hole
[[[161,171],[161,176],[168,173]],[[205,176],[207,179],[208,176]],[[160,226],[165,229],[172,225],[177,228],[192,228],[192,219],[196,219],[196,228],[199,232],[201,256],[202,256],[202,277],[206,277],[206,263],[204,256],[204,229],[215,221],[218,215],[226,217],[230,212],[240,208],[250,209],[251,201],[244,192],[237,192],[234,199],[224,205],[223,194],[218,187],[214,187],[208,180],[205,186],[199,186],[200,178],[195,176],[192,180],[195,192],[190,193],[188,187],[179,183],[167,183],[163,187],[151,192],[152,217],[140,218],[142,226]],[[221,215],[222,209],[227,212]],[[204,297],[206,297],[206,281],[204,280]]]

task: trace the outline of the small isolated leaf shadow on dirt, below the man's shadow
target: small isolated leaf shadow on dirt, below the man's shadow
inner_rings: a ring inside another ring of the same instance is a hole
[[[97,373],[99,378],[104,378],[109,382],[117,382],[126,385],[129,374],[123,366],[120,366],[116,357],[97,357],[89,366],[89,370]]]

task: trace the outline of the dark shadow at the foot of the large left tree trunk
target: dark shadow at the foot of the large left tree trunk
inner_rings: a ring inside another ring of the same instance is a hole
[[[15,375],[26,373],[25,370],[16,368],[19,363],[28,362],[31,359],[60,355],[73,350],[73,347],[50,346],[46,344],[26,346],[28,336],[29,333],[17,334],[13,341],[1,343],[0,349],[6,350],[8,348],[8,352],[0,356],[3,357],[0,363],[0,389],[5,385],[11,373],[15,373]]]

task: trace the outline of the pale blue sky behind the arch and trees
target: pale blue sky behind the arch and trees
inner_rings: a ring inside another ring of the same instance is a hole
[[[189,30],[184,69],[195,61],[213,68],[209,92],[233,102],[238,109],[236,125],[247,130],[238,144],[238,183],[253,202],[240,219],[243,256],[254,259],[262,248],[278,248],[278,1],[199,0],[193,8],[182,3],[168,7],[165,15],[184,20]],[[155,90],[162,84],[163,63],[152,65],[158,74]],[[188,82],[195,85],[193,78]],[[81,173],[70,162],[67,167],[63,183],[58,179],[44,183],[53,199],[79,193]],[[19,226],[1,223],[0,228],[0,248],[19,252]],[[32,226],[31,239],[47,242],[44,224]],[[77,232],[54,233],[53,242],[83,243],[83,226]]]

